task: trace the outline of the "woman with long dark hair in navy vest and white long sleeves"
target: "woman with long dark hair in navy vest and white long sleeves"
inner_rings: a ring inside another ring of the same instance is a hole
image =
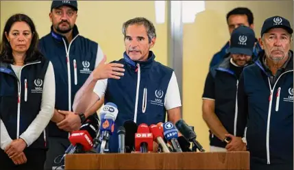
[[[0,45],[0,167],[43,169],[47,124],[55,105],[53,66],[38,51],[36,27],[25,14],[5,23]]]

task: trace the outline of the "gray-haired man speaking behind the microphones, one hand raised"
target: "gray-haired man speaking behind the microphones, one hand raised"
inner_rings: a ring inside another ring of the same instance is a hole
[[[130,19],[123,24],[123,35],[123,58],[112,63],[123,64],[125,71],[112,75],[113,79],[104,79],[99,71],[104,67],[101,64],[79,90],[73,104],[77,112],[88,110],[102,98],[105,103],[117,105],[119,114],[109,141],[110,152],[118,151],[117,129],[127,120],[138,125],[151,125],[164,122],[166,112],[173,123],[181,117],[182,104],[175,73],[173,69],[156,62],[155,54],[150,51],[156,42],[153,23],[142,17]]]

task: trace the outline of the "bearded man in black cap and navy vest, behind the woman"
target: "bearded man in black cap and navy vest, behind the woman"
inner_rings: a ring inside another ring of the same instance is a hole
[[[54,159],[70,145],[69,132],[79,130],[90,115],[97,117],[95,109],[73,112],[72,104],[77,90],[102,60],[103,52],[97,42],[79,35],[75,25],[77,1],[52,1],[49,17],[51,32],[40,39],[39,49],[56,73],[56,105],[49,123],[50,149],[45,163],[46,169],[56,169],[61,164]],[[97,104],[101,106],[103,101]]]

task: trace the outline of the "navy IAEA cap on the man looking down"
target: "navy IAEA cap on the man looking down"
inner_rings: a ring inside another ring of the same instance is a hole
[[[230,53],[252,56],[256,41],[253,29],[240,26],[234,29],[230,39]]]

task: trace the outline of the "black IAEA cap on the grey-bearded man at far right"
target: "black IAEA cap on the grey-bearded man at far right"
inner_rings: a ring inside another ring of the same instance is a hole
[[[286,31],[289,32],[289,34],[293,33],[293,29],[291,28],[291,25],[287,19],[283,18],[282,16],[272,16],[266,19],[263,23],[261,29],[261,36],[262,34],[267,33],[269,29],[277,27],[286,29]]]

